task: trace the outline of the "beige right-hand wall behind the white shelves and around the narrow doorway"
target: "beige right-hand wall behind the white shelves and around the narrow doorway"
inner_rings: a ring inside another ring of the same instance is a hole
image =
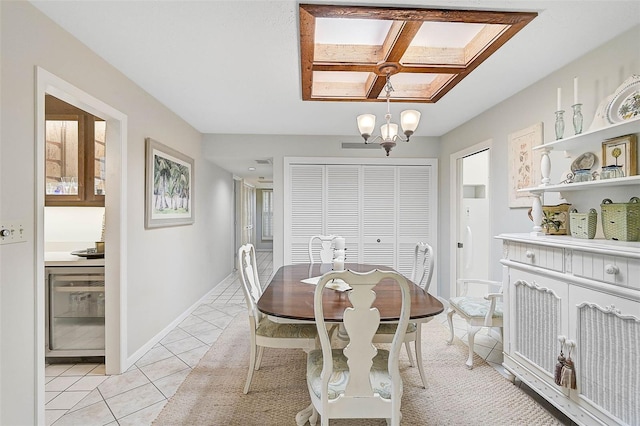
[[[455,241],[450,235],[449,215],[450,203],[450,156],[466,147],[491,139],[491,234],[505,232],[529,232],[532,224],[527,217],[527,209],[510,209],[508,207],[507,177],[507,138],[510,133],[527,128],[533,124],[544,123],[544,139],[555,140],[554,123],[556,109],[556,88],[561,87],[563,108],[571,109],[573,100],[573,78],[578,76],[580,101],[583,103],[584,128],[591,125],[595,110],[600,101],[632,74],[640,74],[640,26],[622,34],[616,39],[602,45],[578,60],[550,74],[537,83],[527,87],[464,125],[447,133],[441,138],[440,152],[440,283],[444,295],[448,295],[450,281],[451,244]],[[544,60],[541,58],[540,60]],[[565,136],[574,134],[571,115],[567,112]],[[599,153],[597,153],[599,154]],[[569,171],[570,161],[552,161],[551,180],[559,182],[563,173]],[[589,197],[574,196],[571,202],[579,211],[588,211],[597,207],[606,197],[622,200],[615,190],[590,191]],[[628,197],[627,197],[628,199]],[[546,194],[545,204],[557,204],[557,194]],[[502,257],[502,246],[499,240],[491,245],[490,269],[491,278],[501,278],[499,259]]]

